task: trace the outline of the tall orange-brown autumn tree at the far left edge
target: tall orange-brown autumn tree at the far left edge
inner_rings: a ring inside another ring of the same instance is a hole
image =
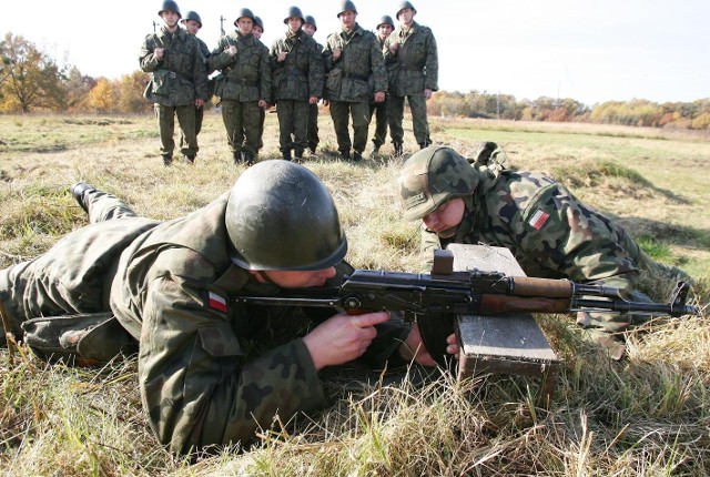
[[[21,111],[37,108],[64,108],[62,71],[47,53],[22,35],[7,33],[0,43],[3,70],[0,78],[0,110]]]

